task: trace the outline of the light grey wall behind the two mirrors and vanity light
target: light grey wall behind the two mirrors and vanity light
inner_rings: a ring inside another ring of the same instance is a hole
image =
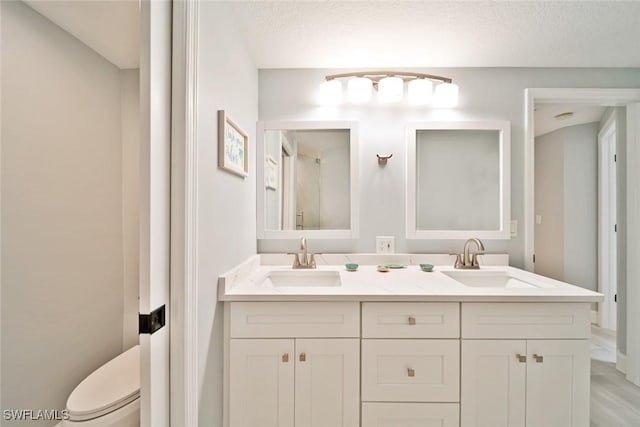
[[[360,238],[311,241],[314,251],[373,252],[376,235],[394,235],[398,252],[460,250],[459,240],[405,239],[405,125],[429,120],[509,120],[511,122],[511,212],[520,229],[524,220],[524,89],[528,87],[640,87],[637,69],[454,68],[412,69],[453,78],[460,103],[453,110],[406,105],[319,107],[318,85],[327,74],[353,70],[260,70],[260,120],[356,120],[360,127]],[[376,153],[393,153],[386,167]],[[378,195],[385,194],[381,204]],[[443,203],[446,203],[443,200]],[[260,241],[260,252],[286,252],[292,241]],[[510,262],[524,266],[524,240],[485,242],[489,252],[507,252]]]

